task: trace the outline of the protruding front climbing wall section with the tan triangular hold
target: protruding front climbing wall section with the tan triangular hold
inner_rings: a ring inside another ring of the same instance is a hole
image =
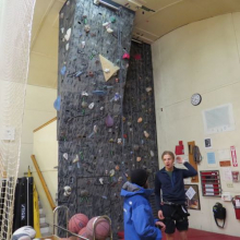
[[[108,215],[115,232],[122,227],[120,190],[128,177],[122,101],[133,20],[128,9],[92,0],[67,1],[60,12],[58,205],[71,216]]]

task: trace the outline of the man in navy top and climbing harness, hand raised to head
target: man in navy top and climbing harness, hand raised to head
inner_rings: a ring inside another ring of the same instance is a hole
[[[187,240],[189,229],[189,213],[185,208],[184,178],[194,177],[197,171],[178,156],[178,164],[183,164],[187,169],[176,168],[175,154],[166,151],[161,155],[165,167],[157,171],[155,178],[155,196],[158,207],[158,217],[166,225],[167,240],[175,239],[176,228],[179,230],[180,239]],[[161,193],[163,197],[161,197]]]

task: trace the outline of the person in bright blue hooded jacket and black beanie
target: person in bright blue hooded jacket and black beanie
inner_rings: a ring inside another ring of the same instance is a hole
[[[131,171],[131,182],[128,181],[122,187],[124,240],[161,240],[159,228],[165,229],[165,225],[159,219],[154,219],[148,201],[154,190],[147,189],[147,177],[144,169],[135,169]]]

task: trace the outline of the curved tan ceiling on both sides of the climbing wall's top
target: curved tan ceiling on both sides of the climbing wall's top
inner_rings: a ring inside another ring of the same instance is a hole
[[[28,74],[31,85],[57,88],[58,14],[65,0],[36,0]],[[240,11],[240,0],[115,0],[115,2],[136,11],[133,38],[148,44],[185,24]]]

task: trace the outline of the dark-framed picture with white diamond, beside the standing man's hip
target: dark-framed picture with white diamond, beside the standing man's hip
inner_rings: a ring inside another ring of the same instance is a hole
[[[184,184],[185,201],[189,209],[201,209],[197,184]]]

